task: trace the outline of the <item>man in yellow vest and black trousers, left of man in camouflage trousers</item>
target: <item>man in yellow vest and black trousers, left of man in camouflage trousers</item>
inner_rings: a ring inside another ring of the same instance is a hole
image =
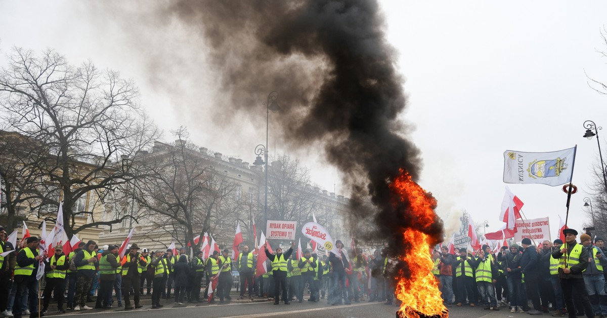
[[[63,293],[66,291],[66,272],[70,267],[70,264],[67,262],[66,255],[63,254],[63,246],[55,246],[55,254],[44,261],[44,266],[44,271],[46,272],[46,286],[44,287],[42,313],[47,313],[50,295],[53,291],[55,291],[55,299],[57,300],[57,312],[65,313],[65,309],[63,309]]]

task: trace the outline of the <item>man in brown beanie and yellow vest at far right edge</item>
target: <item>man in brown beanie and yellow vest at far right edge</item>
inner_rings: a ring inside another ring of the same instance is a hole
[[[580,235],[580,243],[588,252],[588,267],[582,272],[588,299],[594,309],[594,316],[607,316],[607,293],[603,266],[607,266],[607,257],[603,251],[592,244],[592,237],[586,233]]]

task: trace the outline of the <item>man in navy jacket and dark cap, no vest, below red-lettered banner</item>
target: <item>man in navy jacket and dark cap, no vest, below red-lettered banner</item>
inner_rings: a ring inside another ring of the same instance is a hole
[[[521,246],[523,246],[523,254],[521,255],[521,263],[519,266],[524,275],[524,285],[527,290],[527,297],[531,299],[534,308],[532,311],[529,311],[528,314],[541,315],[540,291],[538,290],[540,272],[538,271],[537,250],[534,246],[531,246],[531,240],[529,240],[529,238],[523,238]]]

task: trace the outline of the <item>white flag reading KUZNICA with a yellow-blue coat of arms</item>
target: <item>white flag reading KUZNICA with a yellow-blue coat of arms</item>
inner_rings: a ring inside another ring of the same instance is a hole
[[[504,152],[504,182],[561,185],[571,182],[576,147],[549,153]]]

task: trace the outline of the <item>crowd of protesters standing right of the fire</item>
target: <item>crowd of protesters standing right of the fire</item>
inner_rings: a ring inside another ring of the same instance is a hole
[[[607,317],[605,240],[587,233],[563,230],[560,239],[534,244],[523,238],[520,246],[502,246],[492,252],[483,245],[470,253],[447,247],[433,251],[433,273],[444,305],[507,308],[531,315]],[[537,246],[535,246],[537,245]]]

